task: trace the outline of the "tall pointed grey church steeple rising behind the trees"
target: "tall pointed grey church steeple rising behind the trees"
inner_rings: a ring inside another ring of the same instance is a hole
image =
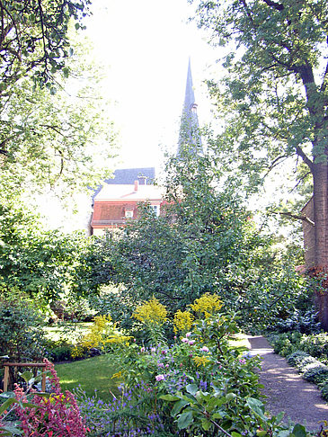
[[[188,63],[186,93],[184,97],[179,133],[178,156],[182,155],[183,151],[189,151],[192,153],[202,152],[199,119],[197,116],[197,103],[195,102],[195,94],[192,86],[191,58],[189,58]]]

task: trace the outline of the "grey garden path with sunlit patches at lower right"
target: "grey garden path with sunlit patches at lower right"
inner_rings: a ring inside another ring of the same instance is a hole
[[[252,355],[262,357],[260,383],[264,386],[266,408],[272,415],[285,412],[288,419],[297,424],[305,424],[310,431],[319,431],[320,420],[328,420],[328,404],[320,396],[314,384],[306,382],[295,368],[288,365],[285,358],[273,352],[267,339],[248,336]]]

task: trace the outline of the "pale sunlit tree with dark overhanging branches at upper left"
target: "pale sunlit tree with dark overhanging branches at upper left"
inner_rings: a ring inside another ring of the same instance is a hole
[[[90,42],[76,36],[90,3],[0,0],[2,192],[48,185],[70,193],[110,173],[108,102],[88,59]]]

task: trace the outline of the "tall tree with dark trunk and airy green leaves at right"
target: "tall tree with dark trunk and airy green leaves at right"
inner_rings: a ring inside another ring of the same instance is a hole
[[[226,158],[256,175],[296,156],[313,178],[316,271],[328,272],[328,4],[326,0],[198,2],[199,26],[226,46],[210,83],[226,114]],[[226,148],[230,147],[230,148]],[[263,150],[266,151],[263,154]],[[317,291],[328,330],[328,290]]]

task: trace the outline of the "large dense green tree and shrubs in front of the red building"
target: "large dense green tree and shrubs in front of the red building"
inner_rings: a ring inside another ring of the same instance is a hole
[[[140,206],[137,220],[103,240],[102,278],[123,286],[124,299],[154,296],[172,313],[218,293],[249,330],[288,317],[306,294],[304,279],[224,183],[210,150],[169,160],[161,217]]]

